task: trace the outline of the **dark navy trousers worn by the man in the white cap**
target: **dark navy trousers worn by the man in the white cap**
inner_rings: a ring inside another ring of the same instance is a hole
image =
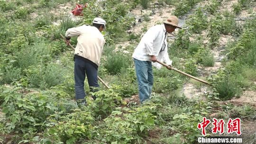
[[[99,88],[98,84],[98,69],[96,69],[91,63],[75,58],[74,64],[74,80],[75,80],[75,99],[84,99],[86,93],[84,91],[84,80],[87,75],[88,84],[90,90],[93,87]]]

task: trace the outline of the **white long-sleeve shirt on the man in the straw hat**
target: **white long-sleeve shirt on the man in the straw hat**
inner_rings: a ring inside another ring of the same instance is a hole
[[[167,51],[167,36],[165,37],[165,33],[166,29],[164,24],[150,27],[141,38],[132,57],[139,61],[151,61],[150,55],[155,55],[158,61],[165,62],[168,65],[172,64]],[[165,49],[160,52],[164,43]],[[161,68],[162,66],[159,63],[152,64],[157,68]]]

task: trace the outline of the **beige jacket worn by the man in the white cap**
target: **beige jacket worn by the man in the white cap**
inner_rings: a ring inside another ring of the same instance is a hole
[[[105,39],[97,27],[82,25],[69,28],[65,36],[78,36],[74,54],[100,65]]]

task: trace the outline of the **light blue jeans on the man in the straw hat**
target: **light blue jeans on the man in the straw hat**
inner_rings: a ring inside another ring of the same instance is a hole
[[[152,63],[150,61],[139,61],[137,59],[134,59],[134,63],[138,82],[139,100],[142,103],[146,99],[149,99],[152,92]]]

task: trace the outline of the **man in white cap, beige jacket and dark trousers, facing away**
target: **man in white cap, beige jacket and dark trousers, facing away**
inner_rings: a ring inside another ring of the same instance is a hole
[[[98,88],[98,67],[101,61],[101,54],[105,39],[101,34],[104,30],[106,21],[102,18],[94,18],[92,26],[82,25],[80,27],[69,28],[66,31],[66,43],[69,44],[72,36],[77,37],[77,45],[74,52],[74,80],[75,80],[75,99],[78,104],[85,105],[84,80],[87,80],[90,90]],[[85,74],[86,73],[86,74]],[[96,99],[93,96],[93,99]]]

